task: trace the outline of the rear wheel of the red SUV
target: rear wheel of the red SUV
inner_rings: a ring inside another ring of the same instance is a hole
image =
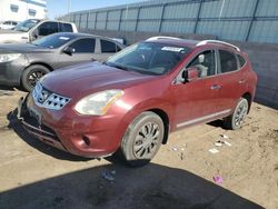
[[[228,118],[224,119],[225,127],[232,130],[241,128],[244,120],[247,116],[248,109],[249,106],[247,99],[240,98],[234,113]]]

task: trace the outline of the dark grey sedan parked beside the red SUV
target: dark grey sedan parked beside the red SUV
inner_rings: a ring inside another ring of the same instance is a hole
[[[32,43],[0,44],[0,83],[30,91],[43,74],[88,61],[105,61],[125,46],[105,37],[54,33]]]

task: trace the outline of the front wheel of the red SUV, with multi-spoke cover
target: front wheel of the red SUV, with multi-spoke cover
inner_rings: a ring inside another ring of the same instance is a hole
[[[121,141],[121,151],[128,165],[140,167],[157,153],[165,135],[161,118],[150,111],[139,115],[127,128]]]

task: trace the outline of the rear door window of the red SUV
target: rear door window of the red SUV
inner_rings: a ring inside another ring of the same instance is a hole
[[[219,57],[220,57],[221,73],[232,72],[238,70],[237,58],[235,53],[226,50],[219,50]]]

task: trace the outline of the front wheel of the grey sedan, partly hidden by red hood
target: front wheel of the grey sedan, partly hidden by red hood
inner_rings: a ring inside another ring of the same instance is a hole
[[[22,74],[22,78],[21,78],[21,84],[22,84],[22,87],[27,91],[31,91],[33,89],[33,87],[36,86],[36,82],[41,77],[43,77],[44,74],[47,74],[48,72],[50,72],[50,70],[48,68],[46,68],[44,66],[34,64],[34,66],[28,67],[23,71],[23,74]]]

